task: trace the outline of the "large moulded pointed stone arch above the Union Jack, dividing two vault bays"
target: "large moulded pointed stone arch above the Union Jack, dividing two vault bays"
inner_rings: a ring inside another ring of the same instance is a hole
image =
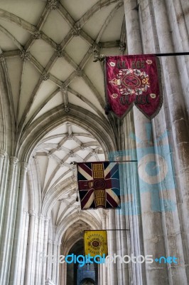
[[[63,105],[60,105],[42,115],[23,131],[16,151],[19,160],[28,162],[33,149],[44,135],[65,122],[75,123],[92,133],[100,145],[102,145],[106,156],[107,152],[116,149],[114,130],[112,130],[112,126],[107,119],[104,118],[102,120],[90,111],[71,104],[70,113],[65,113],[63,111]]]

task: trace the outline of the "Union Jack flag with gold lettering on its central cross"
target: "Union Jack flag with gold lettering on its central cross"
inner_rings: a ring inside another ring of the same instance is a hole
[[[117,162],[77,163],[77,180],[82,209],[119,207],[120,187]]]

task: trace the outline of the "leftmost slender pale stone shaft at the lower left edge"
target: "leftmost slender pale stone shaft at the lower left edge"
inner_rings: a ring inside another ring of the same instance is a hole
[[[11,250],[13,246],[13,229],[15,222],[16,212],[16,199],[17,192],[17,178],[18,178],[18,159],[16,157],[10,157],[9,167],[9,181],[6,192],[6,207],[4,210],[4,224],[1,237],[1,250],[0,250],[0,284],[8,284],[9,272],[10,272],[10,260]]]

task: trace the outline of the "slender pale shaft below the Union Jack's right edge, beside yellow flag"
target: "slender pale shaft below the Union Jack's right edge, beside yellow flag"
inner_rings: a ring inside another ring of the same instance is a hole
[[[114,257],[114,254],[117,254],[117,247],[116,247],[116,231],[115,229],[115,211],[114,209],[109,210],[109,229],[113,229],[112,231],[108,231],[109,237],[109,255]],[[111,285],[117,285],[117,264],[111,262],[109,264],[110,274],[109,274],[109,281]]]

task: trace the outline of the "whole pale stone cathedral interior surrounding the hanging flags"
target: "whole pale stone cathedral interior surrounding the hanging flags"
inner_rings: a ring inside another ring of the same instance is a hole
[[[189,284],[188,52],[188,0],[0,0],[1,285]],[[97,58],[156,53],[158,115],[106,114]],[[121,209],[82,210],[75,162],[108,160]],[[100,229],[153,263],[58,261]]]

